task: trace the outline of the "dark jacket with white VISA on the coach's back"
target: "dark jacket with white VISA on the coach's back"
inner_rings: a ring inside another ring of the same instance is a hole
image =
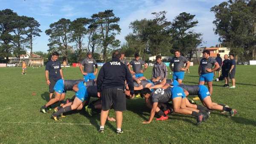
[[[118,58],[112,58],[112,61],[105,63],[99,70],[97,78],[98,92],[112,87],[124,87],[125,80],[131,93],[133,93],[134,84],[128,67],[120,62]]]

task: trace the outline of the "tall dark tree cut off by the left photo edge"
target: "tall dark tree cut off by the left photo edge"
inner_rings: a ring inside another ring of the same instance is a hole
[[[12,55],[12,44],[10,44],[12,35],[10,33],[13,30],[12,22],[16,16],[17,13],[13,12],[11,9],[0,11],[0,41],[2,41],[0,56],[6,57],[7,62],[9,61],[9,56]]]

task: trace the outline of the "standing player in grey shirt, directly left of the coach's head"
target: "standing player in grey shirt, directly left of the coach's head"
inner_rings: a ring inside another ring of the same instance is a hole
[[[84,60],[80,63],[79,69],[81,73],[84,75],[84,81],[87,82],[89,80],[94,80],[98,72],[98,65],[96,60],[92,58],[92,52],[87,53],[87,58],[84,58]],[[94,67],[95,65],[95,72],[94,72]],[[83,67],[84,66],[84,70]]]

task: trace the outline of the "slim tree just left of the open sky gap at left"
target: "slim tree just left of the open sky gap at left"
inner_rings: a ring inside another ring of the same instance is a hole
[[[42,31],[39,29],[40,24],[33,17],[26,17],[25,22],[27,27],[24,28],[24,32],[25,35],[27,35],[27,40],[29,41],[28,47],[30,49],[30,54],[32,54],[34,37],[40,37],[41,35],[39,33]]]

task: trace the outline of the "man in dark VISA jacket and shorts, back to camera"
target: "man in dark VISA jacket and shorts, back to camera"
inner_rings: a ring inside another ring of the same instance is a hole
[[[105,63],[99,71],[97,78],[98,95],[101,93],[102,111],[100,115],[99,132],[104,132],[104,126],[108,117],[108,111],[113,104],[116,112],[116,133],[123,133],[122,111],[126,110],[125,80],[134,95],[134,84],[128,67],[120,62],[121,54],[114,52],[112,61]]]

